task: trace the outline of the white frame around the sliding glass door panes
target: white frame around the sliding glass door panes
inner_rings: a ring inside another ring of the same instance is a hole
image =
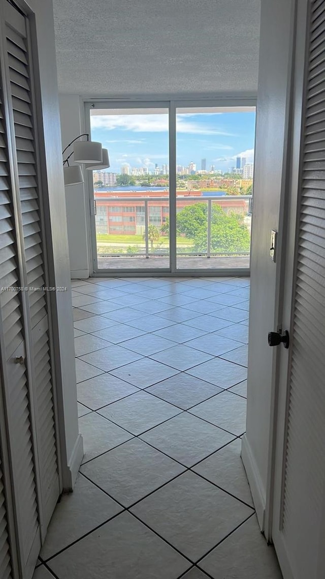
[[[91,256],[93,263],[94,277],[141,277],[149,275],[150,277],[187,277],[187,276],[249,276],[250,268],[226,268],[226,267],[206,267],[206,269],[177,269],[176,255],[176,111],[181,108],[239,108],[254,107],[256,109],[256,98],[244,96],[217,97],[217,98],[195,98],[195,99],[169,99],[157,98],[150,96],[136,97],[128,100],[127,98],[84,98],[84,129],[86,133],[91,134],[90,111],[94,109],[156,109],[164,108],[168,111],[168,143],[169,143],[169,267],[137,268],[137,269],[99,269],[97,259],[97,240],[95,224],[95,203],[94,203],[94,186],[93,171],[84,171],[86,193],[90,204],[90,241]],[[178,111],[179,112],[179,111]]]

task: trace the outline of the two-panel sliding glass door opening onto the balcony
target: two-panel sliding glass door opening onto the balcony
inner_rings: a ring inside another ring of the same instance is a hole
[[[249,271],[255,109],[86,104],[95,274]]]

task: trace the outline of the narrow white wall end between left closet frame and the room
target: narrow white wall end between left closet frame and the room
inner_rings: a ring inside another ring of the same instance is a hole
[[[83,456],[82,437],[78,433],[75,351],[73,345],[70,266],[67,214],[61,157],[61,130],[58,107],[56,53],[52,0],[29,0],[35,11],[36,36],[42,110],[46,171],[44,171],[47,235],[50,239],[49,262],[51,285],[64,286],[67,292],[51,292],[53,329],[56,335],[56,384],[60,413],[60,435],[65,490],[73,487]],[[47,199],[48,193],[48,199]]]

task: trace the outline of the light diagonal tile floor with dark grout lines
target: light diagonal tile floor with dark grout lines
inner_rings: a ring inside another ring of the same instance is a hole
[[[34,579],[278,579],[240,459],[248,278],[72,282],[84,459]]]

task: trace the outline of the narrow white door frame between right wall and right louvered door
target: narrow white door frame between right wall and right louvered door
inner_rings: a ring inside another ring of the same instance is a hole
[[[302,179],[301,150],[304,129],[304,103],[306,98],[306,74],[308,52],[309,0],[294,0],[291,19],[292,36],[292,82],[288,96],[289,130],[287,138],[287,159],[285,166],[285,193],[282,202],[282,237],[280,267],[277,283],[276,329],[293,332],[294,279],[297,266],[297,235],[299,226],[299,192]],[[271,429],[268,449],[267,501],[265,505],[266,538],[275,544],[282,572],[286,578],[294,579],[285,541],[281,537],[283,472],[285,468],[285,442],[287,411],[290,386],[289,350],[279,347],[275,352],[274,379],[272,384]]]

